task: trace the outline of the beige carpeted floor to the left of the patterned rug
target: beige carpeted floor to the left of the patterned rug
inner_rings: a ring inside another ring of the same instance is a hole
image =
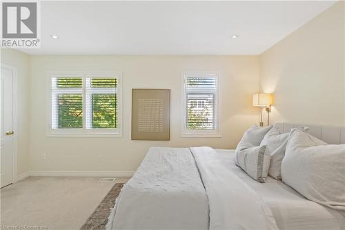
[[[99,178],[30,177],[6,186],[1,193],[2,226],[44,226],[79,230],[115,183]]]

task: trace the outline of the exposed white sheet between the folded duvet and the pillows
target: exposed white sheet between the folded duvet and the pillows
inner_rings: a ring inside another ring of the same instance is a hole
[[[280,230],[293,229],[345,229],[345,213],[329,209],[321,204],[307,200],[282,181],[268,177],[266,183],[250,178],[235,165],[234,150],[217,149],[224,164],[253,188],[270,207]]]

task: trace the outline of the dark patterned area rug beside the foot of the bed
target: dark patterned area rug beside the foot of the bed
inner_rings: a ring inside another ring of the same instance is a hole
[[[106,229],[108,222],[108,216],[110,215],[111,209],[115,205],[115,200],[124,186],[124,183],[115,184],[112,189],[108,192],[106,197],[101,201],[95,211],[90,215],[85,224],[81,227],[81,230],[100,230]]]

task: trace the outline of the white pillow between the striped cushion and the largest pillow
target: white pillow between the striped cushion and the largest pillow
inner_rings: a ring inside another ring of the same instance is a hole
[[[268,175],[277,180],[282,179],[280,175],[280,167],[285,155],[285,148],[286,144],[288,143],[288,135],[289,133],[280,134],[277,128],[273,126],[273,128],[266,133],[260,144],[260,146],[267,146],[266,151],[271,156]]]

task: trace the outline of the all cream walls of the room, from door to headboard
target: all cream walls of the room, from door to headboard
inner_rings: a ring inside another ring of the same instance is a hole
[[[251,100],[259,88],[275,93],[272,122],[345,124],[344,5],[335,4],[259,56],[27,56],[1,50],[1,62],[19,70],[18,174],[135,171],[150,146],[234,148],[257,122]],[[123,137],[46,135],[47,72],[59,70],[123,73]],[[186,70],[221,72],[221,138],[181,138],[181,72]],[[130,140],[131,88],[171,89],[170,141]]]

